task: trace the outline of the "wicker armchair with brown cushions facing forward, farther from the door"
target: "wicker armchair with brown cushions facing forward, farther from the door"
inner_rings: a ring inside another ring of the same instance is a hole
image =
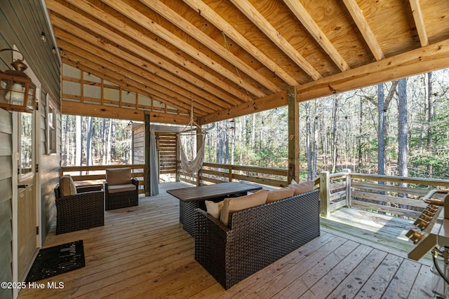
[[[130,168],[106,169],[106,210],[139,205],[139,181],[131,177]]]

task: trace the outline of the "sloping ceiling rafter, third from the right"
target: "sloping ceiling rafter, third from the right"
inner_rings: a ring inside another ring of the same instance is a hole
[[[335,49],[334,45],[329,41],[328,37],[321,28],[316,24],[314,19],[311,18],[309,13],[306,11],[304,6],[302,6],[300,1],[297,0],[283,0],[285,4],[287,4],[290,11],[292,11],[296,18],[300,20],[302,25],[307,29],[309,34],[314,37],[315,41],[319,43],[321,48],[328,53],[330,59],[337,64],[337,67],[340,71],[347,71],[351,69],[349,64],[343,59],[342,55],[338,53],[337,49]]]

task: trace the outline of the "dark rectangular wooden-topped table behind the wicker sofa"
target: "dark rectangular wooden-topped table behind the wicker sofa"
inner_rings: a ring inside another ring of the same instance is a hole
[[[227,197],[240,197],[246,195],[248,191],[260,190],[262,187],[250,185],[248,183],[227,182],[213,185],[187,187],[167,190],[167,193],[180,200],[180,223],[190,235],[194,235],[195,230],[195,209],[206,210],[205,200],[220,202]]]

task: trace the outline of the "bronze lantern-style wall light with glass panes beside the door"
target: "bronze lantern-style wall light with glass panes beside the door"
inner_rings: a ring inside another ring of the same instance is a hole
[[[20,53],[18,50],[11,50]],[[22,54],[20,54],[22,55]],[[11,65],[14,69],[0,71],[0,108],[8,111],[32,112],[36,99],[36,85],[23,72],[27,64],[21,60],[13,60]]]

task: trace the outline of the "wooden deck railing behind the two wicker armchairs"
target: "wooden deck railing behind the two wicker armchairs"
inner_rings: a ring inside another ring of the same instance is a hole
[[[131,168],[133,178],[139,181],[139,193],[145,193],[143,180],[143,164],[134,165],[95,165],[95,166],[63,166],[61,176],[70,174],[77,185],[100,185],[106,179],[106,169]]]

